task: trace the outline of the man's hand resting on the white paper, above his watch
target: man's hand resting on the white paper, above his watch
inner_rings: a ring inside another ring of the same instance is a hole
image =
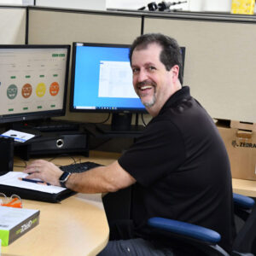
[[[26,166],[26,169],[23,172],[29,174],[27,178],[40,178],[46,183],[61,186],[59,178],[63,172],[49,161],[34,160],[29,166]]]

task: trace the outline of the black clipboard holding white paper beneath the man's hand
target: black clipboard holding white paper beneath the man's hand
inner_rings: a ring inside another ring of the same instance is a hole
[[[21,199],[45,202],[60,202],[77,192],[55,186],[45,186],[18,180],[25,177],[23,172],[8,172],[0,177],[0,192],[7,196],[19,195]]]

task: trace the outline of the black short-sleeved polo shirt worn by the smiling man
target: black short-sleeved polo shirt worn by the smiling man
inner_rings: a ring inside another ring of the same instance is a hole
[[[137,180],[132,199],[137,236],[152,238],[148,218],[173,218],[216,230],[220,245],[230,251],[230,162],[216,125],[189,87],[170,97],[119,165]]]

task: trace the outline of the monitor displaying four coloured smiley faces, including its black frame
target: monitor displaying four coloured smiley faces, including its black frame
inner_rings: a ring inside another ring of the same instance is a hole
[[[0,123],[65,115],[70,45],[0,45]]]

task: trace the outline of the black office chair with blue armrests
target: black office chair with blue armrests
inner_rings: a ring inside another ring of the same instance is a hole
[[[237,230],[232,253],[229,254],[218,246],[221,236],[214,230],[168,218],[149,218],[148,225],[160,236],[172,237],[175,241],[193,247],[198,255],[207,256],[253,256],[256,237],[256,206],[254,200],[244,195],[233,193],[235,215],[243,225]],[[254,251],[255,252],[255,251]]]

